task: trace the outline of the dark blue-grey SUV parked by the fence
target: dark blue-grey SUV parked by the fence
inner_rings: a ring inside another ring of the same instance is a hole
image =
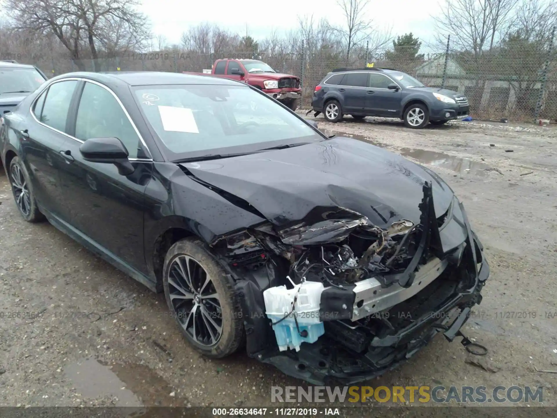
[[[381,116],[402,119],[414,129],[464,119],[470,111],[468,99],[456,91],[426,87],[404,72],[377,67],[329,72],[315,87],[311,105],[315,116],[323,113],[330,122],[343,115]]]

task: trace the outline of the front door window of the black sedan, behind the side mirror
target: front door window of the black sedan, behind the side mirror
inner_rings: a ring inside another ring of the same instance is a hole
[[[128,150],[130,158],[137,158],[140,139],[128,116],[109,90],[91,82],[85,83],[81,94],[75,136],[90,138],[118,138]]]

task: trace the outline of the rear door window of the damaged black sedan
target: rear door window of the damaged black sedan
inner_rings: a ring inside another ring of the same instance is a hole
[[[76,86],[76,80],[53,83],[48,88],[39,120],[49,127],[66,132],[66,120],[70,109],[71,96],[74,94]]]

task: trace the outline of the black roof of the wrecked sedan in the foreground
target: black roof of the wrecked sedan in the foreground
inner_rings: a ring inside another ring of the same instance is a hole
[[[207,85],[246,85],[236,80],[228,80],[209,75],[182,74],[179,72],[159,71],[112,71],[112,72],[69,72],[55,77],[57,80],[69,77],[82,77],[107,85],[128,84],[130,86],[168,85],[168,84],[207,84]]]

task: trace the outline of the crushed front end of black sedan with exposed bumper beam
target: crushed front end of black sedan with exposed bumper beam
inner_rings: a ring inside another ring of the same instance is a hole
[[[380,228],[343,207],[316,207],[302,221],[213,242],[240,296],[248,354],[316,385],[349,384],[392,370],[440,331],[449,341],[461,336],[489,275],[483,247],[456,197],[436,217],[426,182],[419,210],[419,223]],[[305,281],[323,283],[324,334],[279,349],[263,292]]]

